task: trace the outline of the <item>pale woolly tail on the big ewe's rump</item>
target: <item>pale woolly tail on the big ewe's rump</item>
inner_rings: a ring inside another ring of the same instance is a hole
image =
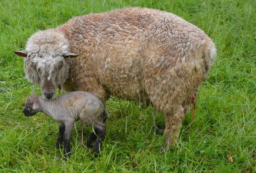
[[[211,40],[208,40],[205,43],[203,51],[205,61],[205,73],[207,74],[210,71],[214,59],[216,58],[216,48],[214,43]]]

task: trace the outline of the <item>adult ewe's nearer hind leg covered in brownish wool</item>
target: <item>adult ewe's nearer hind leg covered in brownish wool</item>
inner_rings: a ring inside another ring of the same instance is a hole
[[[164,133],[165,143],[164,146],[160,149],[160,152],[167,146],[171,146],[177,141],[179,137],[179,132],[184,118],[184,108],[181,105],[175,105],[172,107],[173,114],[165,114],[165,129]]]

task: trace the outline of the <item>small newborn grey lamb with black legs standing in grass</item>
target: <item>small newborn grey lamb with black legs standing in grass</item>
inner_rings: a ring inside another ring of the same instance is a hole
[[[23,113],[29,117],[37,112],[44,112],[54,120],[61,122],[56,147],[62,148],[64,142],[64,156],[70,155],[70,138],[74,122],[78,119],[82,121],[81,144],[84,147],[83,124],[93,127],[95,133],[90,134],[86,144],[91,147],[91,143],[95,141],[93,151],[97,157],[100,142],[104,140],[106,135],[106,125],[103,122],[108,118],[108,115],[103,103],[95,94],[75,91],[50,101],[39,95],[31,95],[26,100]]]

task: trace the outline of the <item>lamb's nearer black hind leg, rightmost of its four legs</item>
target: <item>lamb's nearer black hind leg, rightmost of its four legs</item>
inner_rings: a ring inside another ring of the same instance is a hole
[[[106,125],[99,122],[94,125],[94,131],[95,131],[96,135],[98,136],[94,143],[94,146],[93,146],[93,151],[95,152],[95,157],[97,157],[98,156],[97,154],[99,153],[100,142],[102,142],[104,140],[105,135],[106,135]]]

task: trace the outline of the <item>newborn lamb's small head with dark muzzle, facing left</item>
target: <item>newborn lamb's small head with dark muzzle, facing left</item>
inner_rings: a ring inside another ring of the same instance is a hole
[[[30,117],[35,115],[40,111],[39,103],[38,103],[38,95],[31,95],[26,99],[26,104],[23,110],[23,114],[26,117]]]

